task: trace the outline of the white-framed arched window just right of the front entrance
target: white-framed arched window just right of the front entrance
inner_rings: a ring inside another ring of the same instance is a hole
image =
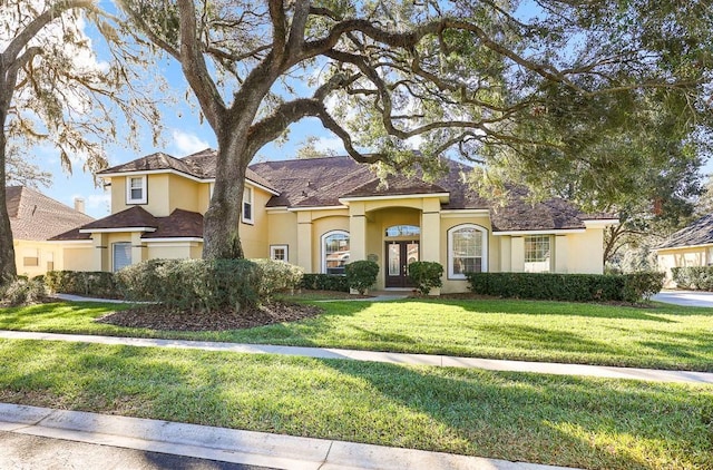
[[[466,273],[488,271],[488,231],[462,224],[448,231],[448,278],[465,280]]]

